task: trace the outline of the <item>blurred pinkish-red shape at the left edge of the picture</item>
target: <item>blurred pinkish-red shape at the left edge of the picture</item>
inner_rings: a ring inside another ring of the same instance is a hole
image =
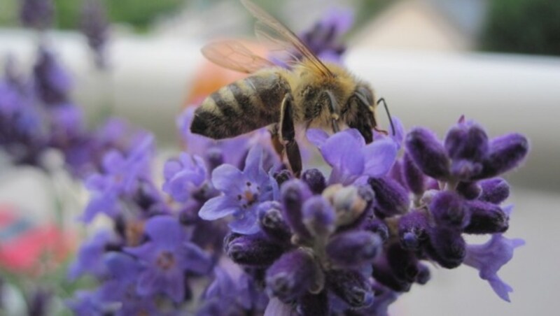
[[[42,273],[62,263],[73,238],[53,224],[37,224],[20,213],[0,205],[0,266],[15,273]]]

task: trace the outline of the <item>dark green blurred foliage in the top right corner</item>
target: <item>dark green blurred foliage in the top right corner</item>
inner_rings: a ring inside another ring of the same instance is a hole
[[[492,0],[482,49],[560,55],[560,1]]]

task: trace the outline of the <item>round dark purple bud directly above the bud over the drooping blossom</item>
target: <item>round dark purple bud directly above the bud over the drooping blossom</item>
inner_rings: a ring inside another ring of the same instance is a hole
[[[469,212],[465,200],[455,192],[441,191],[435,194],[429,209],[435,222],[444,227],[463,228],[468,224]]]

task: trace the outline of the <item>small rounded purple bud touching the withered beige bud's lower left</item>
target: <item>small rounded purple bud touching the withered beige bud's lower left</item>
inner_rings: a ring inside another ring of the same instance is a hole
[[[329,236],[335,231],[335,210],[323,196],[312,196],[303,204],[303,224],[313,236]]]

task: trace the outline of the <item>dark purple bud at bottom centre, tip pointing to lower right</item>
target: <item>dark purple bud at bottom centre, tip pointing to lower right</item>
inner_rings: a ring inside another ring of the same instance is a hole
[[[329,289],[349,306],[363,308],[373,302],[370,282],[358,271],[329,270],[326,276]]]

